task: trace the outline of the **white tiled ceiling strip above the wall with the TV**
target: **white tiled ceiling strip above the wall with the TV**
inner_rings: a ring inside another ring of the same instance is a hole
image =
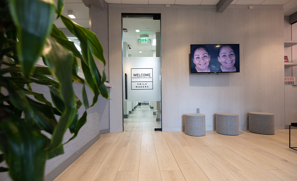
[[[217,5],[220,0],[105,0],[117,4]],[[233,0],[236,5],[284,5],[284,15],[297,11],[297,0]]]

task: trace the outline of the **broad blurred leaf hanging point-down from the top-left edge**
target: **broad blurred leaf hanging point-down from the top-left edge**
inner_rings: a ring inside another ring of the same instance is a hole
[[[9,1],[10,12],[18,27],[17,51],[26,78],[35,68],[45,38],[52,30],[55,6],[51,1]]]

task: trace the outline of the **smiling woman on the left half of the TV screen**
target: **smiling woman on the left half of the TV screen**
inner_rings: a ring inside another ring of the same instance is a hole
[[[209,61],[210,55],[209,52],[204,45],[195,46],[193,49],[193,62],[196,65],[195,67],[191,67],[192,72],[210,72]]]

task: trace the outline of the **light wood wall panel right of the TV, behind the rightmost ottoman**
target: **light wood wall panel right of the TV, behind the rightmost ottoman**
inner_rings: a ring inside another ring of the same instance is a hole
[[[243,12],[245,115],[248,117],[249,112],[274,113],[275,125],[284,129],[284,65],[280,61],[284,52],[284,29],[275,29],[284,27],[283,10],[248,9]]]

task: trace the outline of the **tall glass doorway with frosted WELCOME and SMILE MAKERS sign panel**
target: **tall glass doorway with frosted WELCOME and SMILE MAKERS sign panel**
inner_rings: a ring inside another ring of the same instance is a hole
[[[160,14],[122,14],[123,131],[162,131]]]

